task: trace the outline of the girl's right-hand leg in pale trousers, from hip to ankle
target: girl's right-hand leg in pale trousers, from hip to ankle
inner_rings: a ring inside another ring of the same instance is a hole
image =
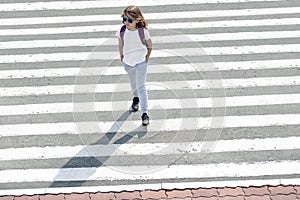
[[[141,111],[147,113],[148,110],[148,94],[146,90],[147,62],[136,65],[136,88],[140,98]]]

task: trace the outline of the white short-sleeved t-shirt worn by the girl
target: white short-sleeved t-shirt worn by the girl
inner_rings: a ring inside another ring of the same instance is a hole
[[[116,33],[119,38],[121,38],[120,30],[121,28]],[[149,40],[150,34],[147,29],[144,29],[144,34],[145,40]],[[147,47],[142,43],[138,29],[131,31],[126,28],[124,33],[123,62],[127,65],[135,66],[146,60],[147,52]]]

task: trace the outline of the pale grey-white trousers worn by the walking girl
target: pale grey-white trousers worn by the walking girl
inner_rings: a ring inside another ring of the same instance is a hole
[[[131,90],[134,97],[139,97],[142,113],[148,110],[148,94],[146,90],[147,62],[141,62],[135,66],[129,66],[123,62],[128,73]]]

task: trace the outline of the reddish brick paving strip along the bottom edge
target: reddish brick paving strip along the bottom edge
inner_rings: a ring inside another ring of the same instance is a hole
[[[197,188],[184,190],[145,190],[83,194],[2,196],[0,200],[300,200],[300,186],[261,186],[236,188]]]

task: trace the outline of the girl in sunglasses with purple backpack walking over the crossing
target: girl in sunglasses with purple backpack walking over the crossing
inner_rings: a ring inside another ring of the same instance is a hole
[[[152,50],[152,42],[147,22],[137,6],[128,6],[124,9],[123,26],[117,32],[119,37],[119,52],[121,61],[128,73],[133,102],[131,110],[138,111],[139,103],[142,111],[142,124],[149,124],[148,95],[146,91],[147,64]]]

